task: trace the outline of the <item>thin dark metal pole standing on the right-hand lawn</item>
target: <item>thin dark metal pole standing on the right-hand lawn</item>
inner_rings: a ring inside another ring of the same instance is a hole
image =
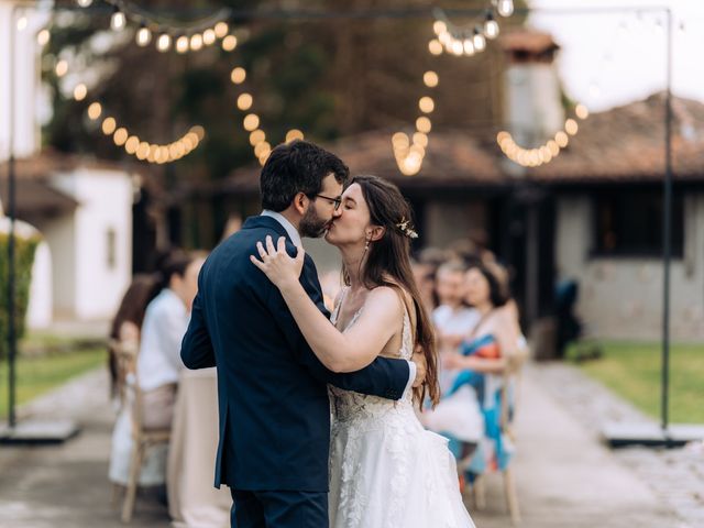
[[[662,394],[660,426],[667,431],[669,425],[670,393],[670,261],[672,223],[672,12],[667,12],[667,87],[664,99],[664,183],[662,194]],[[667,437],[667,432],[666,432]]]

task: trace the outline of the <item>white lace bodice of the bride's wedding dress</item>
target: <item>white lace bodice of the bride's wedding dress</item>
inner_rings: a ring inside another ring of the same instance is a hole
[[[334,324],[340,315],[340,307],[346,297],[346,290],[343,292],[340,302],[336,307],[330,318]],[[348,330],[352,324],[356,322],[360,315],[364,310],[364,306],[360,308],[350,322],[342,331]],[[410,326],[410,318],[408,311],[404,306],[404,322],[402,329],[402,344],[396,358],[410,360],[413,356],[414,343],[413,343],[413,330]],[[370,396],[365,394],[354,393],[352,391],[343,391],[338,387],[330,386],[330,402],[332,405],[332,415],[334,422],[359,421],[367,420],[369,418],[380,419],[388,413],[398,413],[404,409],[404,414],[407,409],[413,413],[413,394],[406,396],[406,398],[394,402],[378,396]],[[333,424],[334,424],[333,422]]]

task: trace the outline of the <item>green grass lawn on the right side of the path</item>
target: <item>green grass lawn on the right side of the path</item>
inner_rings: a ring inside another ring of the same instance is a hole
[[[630,400],[648,415],[660,417],[660,343],[604,341],[604,356],[580,363],[590,376]],[[572,345],[574,358],[581,345]],[[670,421],[704,424],[704,344],[670,348]]]

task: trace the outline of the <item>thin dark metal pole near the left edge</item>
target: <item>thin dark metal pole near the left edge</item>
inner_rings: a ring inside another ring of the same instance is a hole
[[[15,285],[14,285],[14,220],[16,216],[15,211],[15,175],[14,175],[14,47],[15,47],[15,23],[14,13],[16,6],[12,6],[12,12],[10,16],[10,158],[8,161],[8,212],[10,217],[10,233],[8,235],[8,389],[9,389],[9,425],[10,428],[14,428],[16,425],[15,416],[15,361],[18,352],[18,339],[16,339],[16,321],[15,321]]]

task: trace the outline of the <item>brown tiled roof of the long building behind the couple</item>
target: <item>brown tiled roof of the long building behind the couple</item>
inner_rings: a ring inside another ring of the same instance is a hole
[[[704,105],[673,98],[672,109],[674,177],[704,182]],[[496,144],[496,131],[431,132],[422,168],[415,176],[398,170],[392,130],[344,138],[326,147],[338,154],[352,174],[384,176],[404,189],[504,186],[517,177],[541,184],[651,182],[660,180],[664,170],[663,120],[663,94],[593,113],[579,122],[578,135],[557,158],[519,176],[507,170],[513,162]],[[260,169],[258,165],[239,168],[210,190],[256,193]]]

